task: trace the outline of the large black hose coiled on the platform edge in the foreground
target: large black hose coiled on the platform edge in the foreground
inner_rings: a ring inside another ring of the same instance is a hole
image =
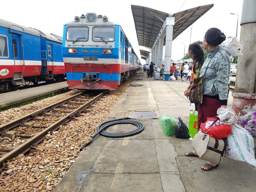
[[[89,145],[93,138],[96,137],[99,133],[100,135],[103,135],[105,137],[112,137],[112,138],[119,138],[119,137],[129,137],[132,135],[136,135],[138,133],[140,133],[141,131],[143,131],[144,129],[144,125],[138,121],[135,120],[128,120],[131,118],[121,118],[121,119],[115,119],[115,120],[110,120],[110,121],[106,121],[101,123],[98,127],[97,127],[97,132],[90,138],[88,138],[88,141],[83,144],[83,146],[80,148],[80,151],[82,151],[87,145]],[[137,129],[130,131],[128,133],[109,133],[106,131],[106,129],[110,126],[113,125],[118,125],[118,124],[131,124],[131,125],[135,125],[137,126]]]

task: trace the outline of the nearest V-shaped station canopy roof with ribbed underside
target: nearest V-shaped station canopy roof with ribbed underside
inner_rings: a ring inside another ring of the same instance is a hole
[[[164,38],[165,45],[165,20],[166,17],[175,17],[173,26],[173,40],[180,35],[185,29],[192,25],[197,19],[203,16],[214,4],[194,7],[192,9],[183,10],[175,14],[168,14],[149,7],[131,5],[133,20],[138,38],[138,45],[152,50],[159,39]],[[160,34],[161,29],[163,30]],[[145,55],[143,55],[145,56]]]

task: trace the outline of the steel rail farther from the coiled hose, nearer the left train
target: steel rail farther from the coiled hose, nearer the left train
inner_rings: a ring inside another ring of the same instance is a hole
[[[71,97],[69,97],[67,99],[61,100],[61,101],[59,101],[59,102],[57,102],[55,104],[52,104],[50,106],[44,107],[42,109],[39,109],[38,111],[32,112],[32,113],[30,113],[30,114],[28,114],[26,116],[23,116],[23,117],[21,117],[19,119],[16,119],[14,121],[10,121],[9,123],[3,124],[3,125],[0,126],[0,133],[2,133],[3,130],[9,130],[11,128],[19,126],[19,125],[21,125],[21,121],[29,121],[29,120],[33,119],[34,115],[36,115],[36,114],[38,114],[40,112],[43,112],[43,111],[46,111],[46,112],[50,111],[52,108],[58,107],[61,104],[68,102],[69,100],[75,99],[76,97],[79,97],[83,93],[84,92],[78,93],[78,94],[73,95],[73,96],[71,96]]]

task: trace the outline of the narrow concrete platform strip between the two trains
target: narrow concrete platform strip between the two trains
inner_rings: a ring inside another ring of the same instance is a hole
[[[67,81],[0,94],[0,109],[67,89]]]

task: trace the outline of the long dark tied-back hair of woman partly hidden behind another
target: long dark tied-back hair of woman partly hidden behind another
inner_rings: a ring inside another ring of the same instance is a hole
[[[189,50],[191,50],[194,53],[194,67],[193,67],[193,73],[196,74],[196,69],[201,69],[202,64],[204,63],[204,52],[202,50],[202,47],[198,43],[192,43],[189,45]],[[195,63],[198,61],[198,66],[195,66]]]

